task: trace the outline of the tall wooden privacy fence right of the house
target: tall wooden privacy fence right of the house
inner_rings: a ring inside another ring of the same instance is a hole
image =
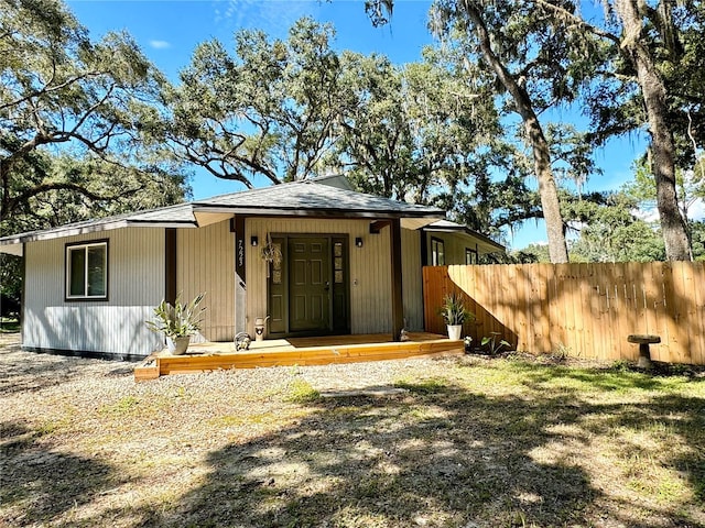
[[[424,267],[427,332],[445,333],[443,296],[464,294],[475,343],[491,332],[532,353],[637,359],[632,333],[661,337],[651,358],[705,364],[705,263]]]

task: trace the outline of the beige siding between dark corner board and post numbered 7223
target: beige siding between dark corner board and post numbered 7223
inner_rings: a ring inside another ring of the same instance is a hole
[[[202,334],[208,341],[235,338],[235,235],[229,220],[176,235],[176,292],[183,300],[205,293]]]

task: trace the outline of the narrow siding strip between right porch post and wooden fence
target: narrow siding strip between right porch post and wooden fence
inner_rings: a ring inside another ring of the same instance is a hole
[[[404,319],[408,330],[423,330],[423,274],[421,272],[421,232],[401,230],[401,264],[404,280]]]

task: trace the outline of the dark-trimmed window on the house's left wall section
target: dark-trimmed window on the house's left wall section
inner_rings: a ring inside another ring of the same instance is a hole
[[[108,242],[66,245],[66,298],[108,298]]]

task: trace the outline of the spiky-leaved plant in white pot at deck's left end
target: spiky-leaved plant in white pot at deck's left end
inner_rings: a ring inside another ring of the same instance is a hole
[[[191,302],[183,304],[181,294],[176,296],[174,306],[162,300],[154,308],[154,319],[145,321],[150,330],[163,333],[167,338],[172,354],[181,355],[186,352],[191,337],[200,330],[202,315],[205,308],[198,308],[205,294],[198,294]]]

